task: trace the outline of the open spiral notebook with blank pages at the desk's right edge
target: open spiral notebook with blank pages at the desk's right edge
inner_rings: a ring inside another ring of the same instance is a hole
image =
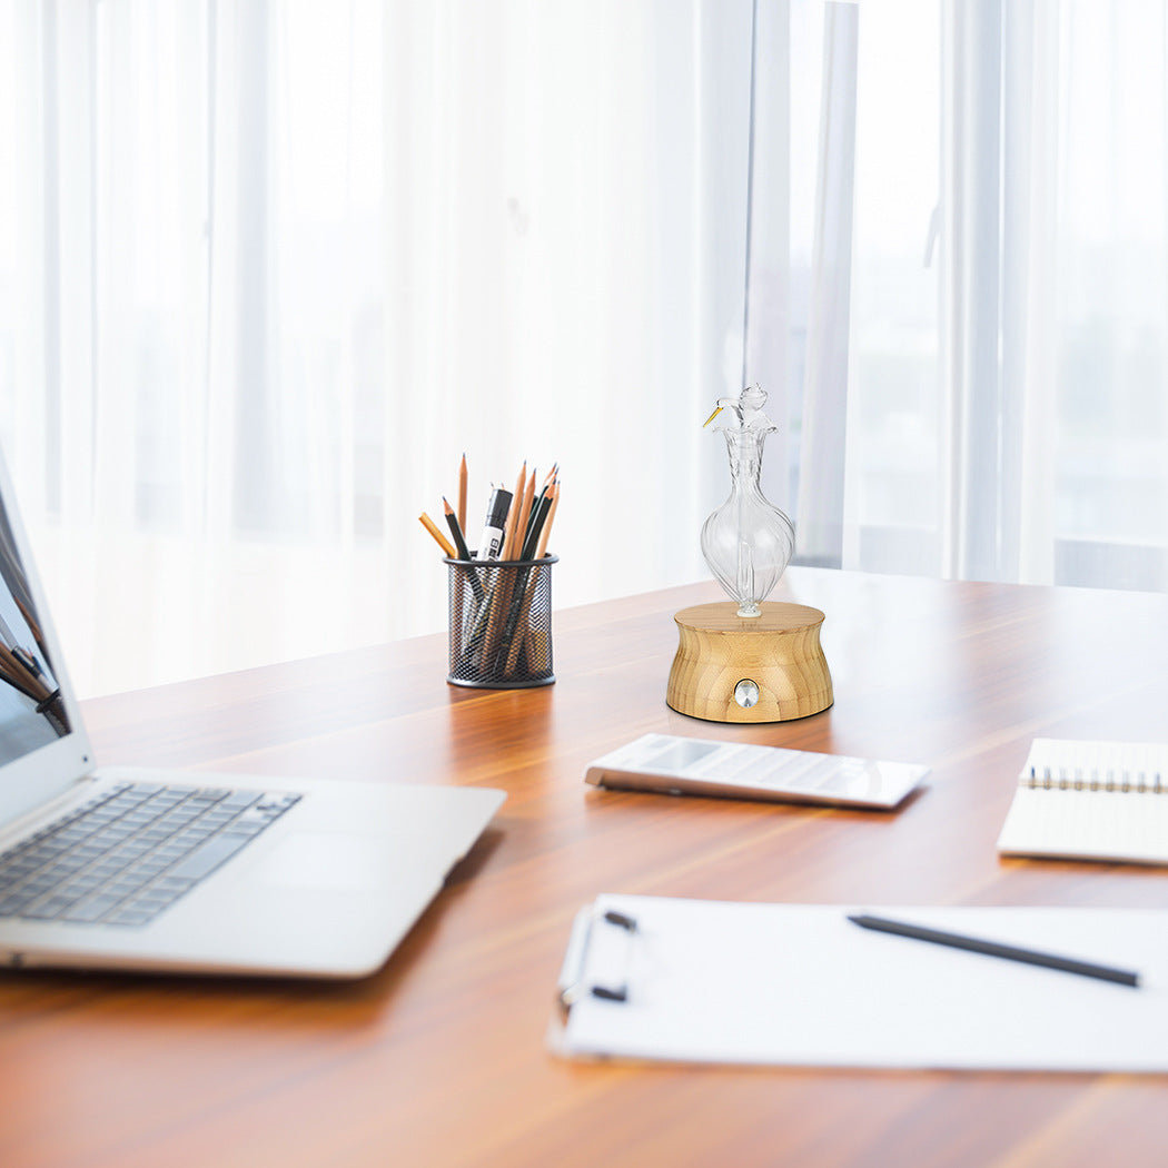
[[[1168,745],[1035,738],[997,850],[1168,864]]]

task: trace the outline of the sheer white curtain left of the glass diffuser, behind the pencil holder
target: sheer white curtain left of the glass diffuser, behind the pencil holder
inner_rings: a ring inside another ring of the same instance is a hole
[[[557,607],[705,575],[750,0],[0,0],[0,443],[83,694],[445,627],[558,461]],[[472,540],[473,542],[473,540]]]

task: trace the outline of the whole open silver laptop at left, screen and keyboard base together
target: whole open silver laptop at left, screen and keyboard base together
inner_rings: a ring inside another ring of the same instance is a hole
[[[364,976],[503,801],[98,769],[2,459],[0,577],[0,965]]]

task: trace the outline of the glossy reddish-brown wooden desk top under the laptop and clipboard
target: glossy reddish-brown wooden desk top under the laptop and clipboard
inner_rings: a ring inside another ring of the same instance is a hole
[[[681,588],[559,612],[557,684],[445,684],[445,637],[88,704],[99,758],[505,787],[357,985],[0,974],[0,1163],[1162,1164],[1168,1080],[591,1066],[544,1049],[573,911],[600,891],[1168,905],[1168,871],[1002,862],[1031,737],[1168,736],[1168,598],[792,570],[835,705],[734,728],[665,704]],[[645,731],[923,762],[895,815],[586,788]],[[776,1002],[776,1008],[792,1003]]]

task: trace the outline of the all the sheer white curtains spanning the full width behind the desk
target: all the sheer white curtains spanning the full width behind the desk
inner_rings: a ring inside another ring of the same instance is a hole
[[[703,578],[759,381],[805,562],[1168,583],[1154,0],[0,0],[0,444],[83,693]]]

